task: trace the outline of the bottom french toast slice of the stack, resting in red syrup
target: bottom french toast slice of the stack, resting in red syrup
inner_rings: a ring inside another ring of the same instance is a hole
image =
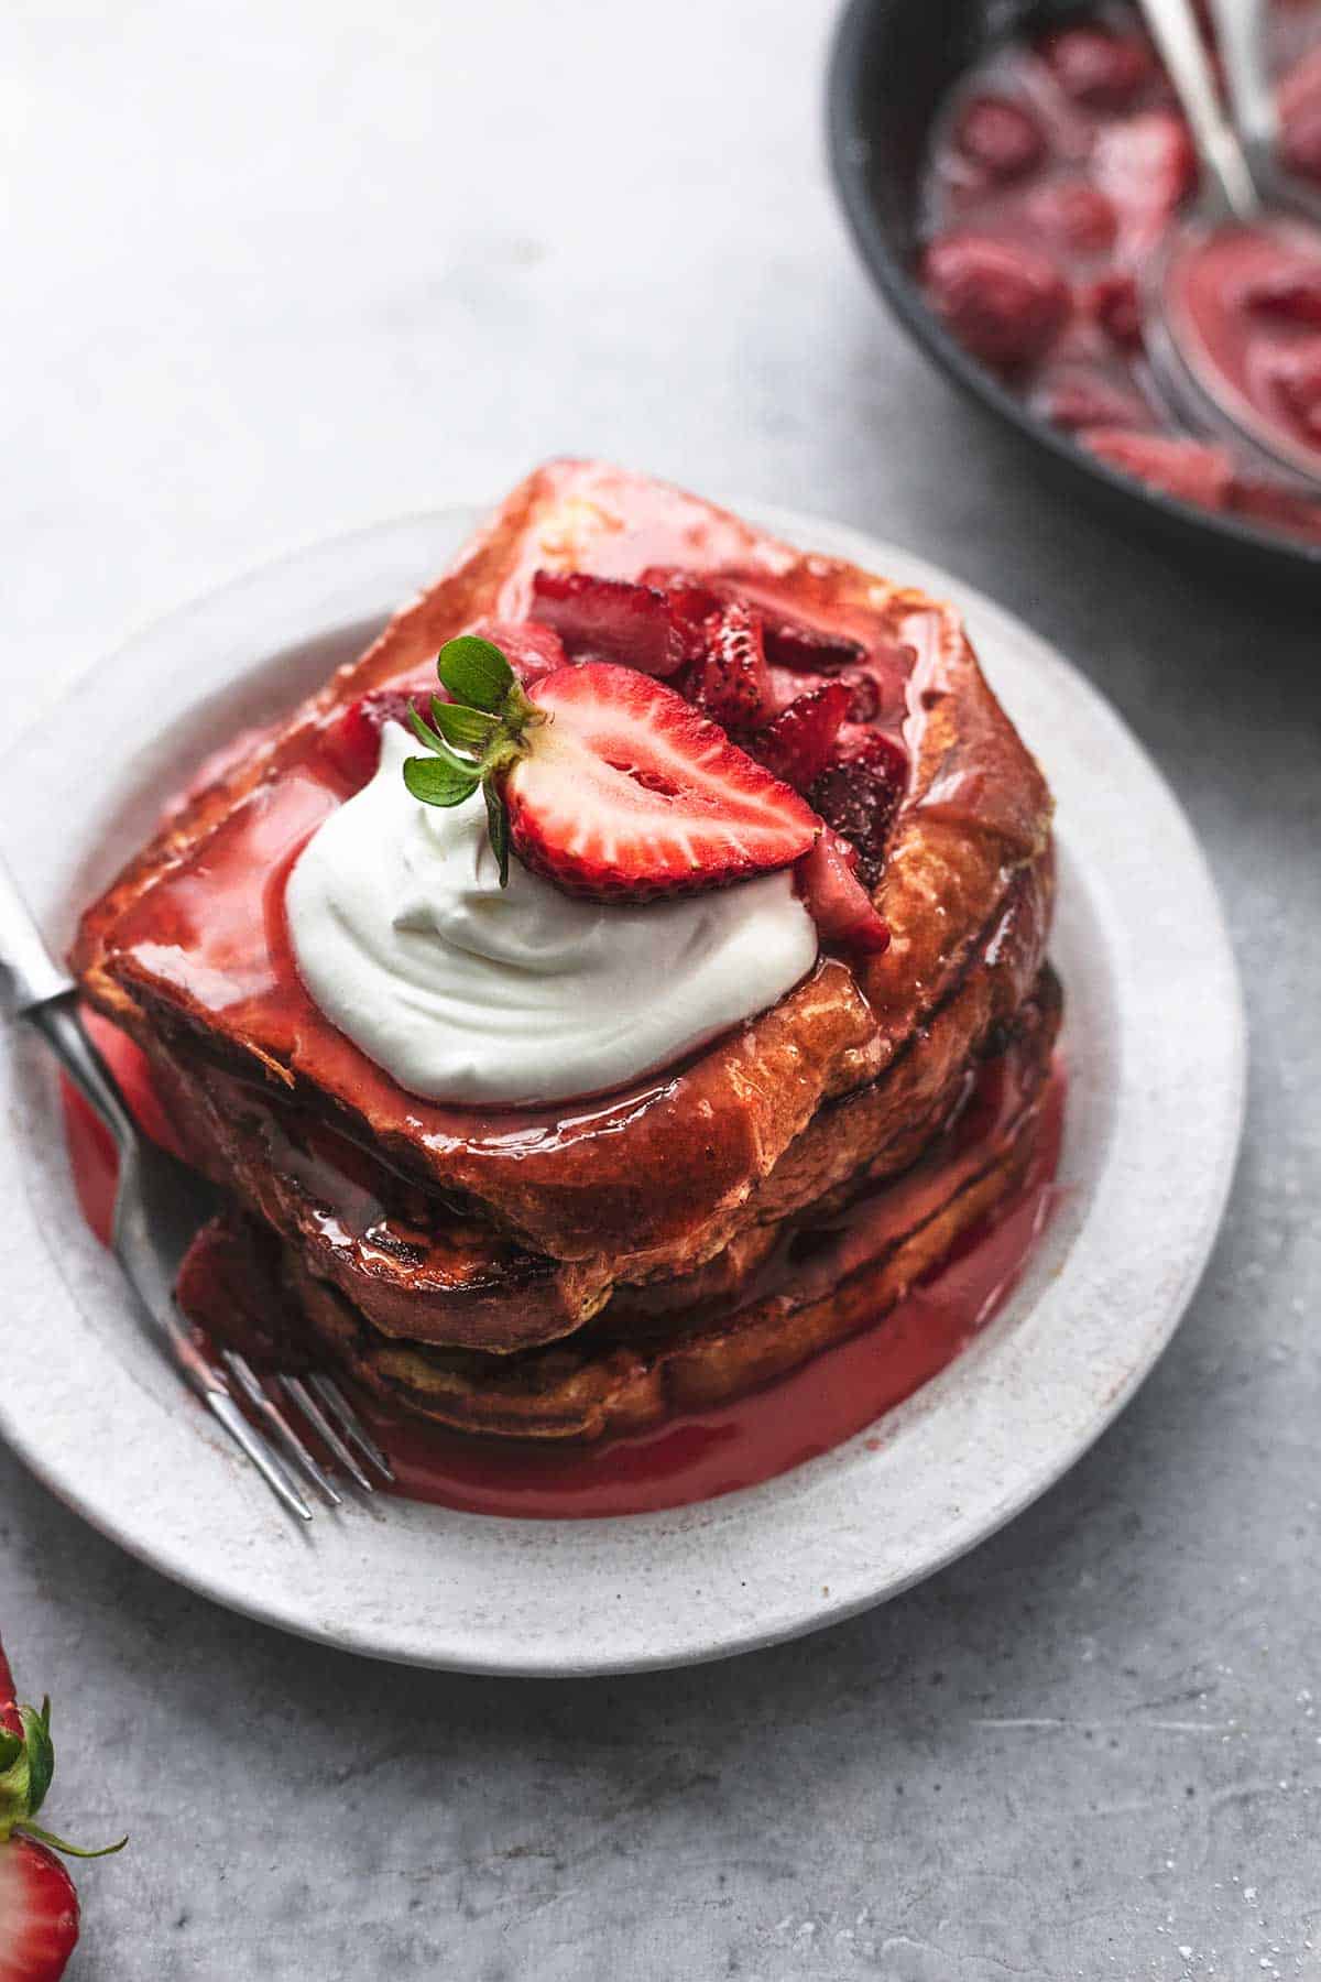
[[[489,1356],[396,1340],[299,1249],[244,1221],[202,1237],[180,1298],[202,1326],[230,1282],[271,1314],[287,1316],[293,1302],[295,1354],[329,1358],[382,1403],[450,1429],[545,1441],[638,1431],[757,1389],[879,1322],[992,1217],[1036,1156],[1058,1025],[1060,987],[1046,971],[1014,1037],[982,1068],[978,1114],[963,1136],[939,1138],[879,1189],[766,1227],[733,1284],[705,1268],[665,1282],[656,1304],[648,1290],[622,1288],[549,1348]]]

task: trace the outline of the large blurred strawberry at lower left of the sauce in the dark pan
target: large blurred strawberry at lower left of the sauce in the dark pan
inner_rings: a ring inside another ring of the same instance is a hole
[[[1067,285],[1046,256],[988,234],[935,240],[923,272],[937,317],[996,371],[1040,359],[1069,311]]]

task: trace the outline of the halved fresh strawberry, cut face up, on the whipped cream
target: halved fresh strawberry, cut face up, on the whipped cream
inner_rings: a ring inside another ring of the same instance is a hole
[[[519,858],[568,894],[646,902],[802,858],[810,807],[681,696],[584,662],[531,688],[551,719],[503,779]]]

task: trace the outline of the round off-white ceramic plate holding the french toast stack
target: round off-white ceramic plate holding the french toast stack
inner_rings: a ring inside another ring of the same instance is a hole
[[[376,1500],[303,1528],[141,1336],[77,1213],[51,1070],[30,1035],[6,1037],[0,1429],[69,1506],[164,1576],[416,1665],[606,1673],[715,1659],[879,1603],[992,1534],[1091,1445],[1169,1342],[1220,1223],[1244,1096],[1234,959],[1188,823],[1105,702],[990,601],[834,523],[764,519],[959,599],[1056,789],[1066,1191],[1022,1284],[881,1421],[879,1441],[860,1435],[762,1486],[570,1522]],[[471,509],[446,509],[317,545],[135,638],[97,670],[113,694],[95,694],[83,783],[63,775],[57,721],[14,749],[0,846],[51,941],[67,939],[180,771],[356,652],[471,523]]]

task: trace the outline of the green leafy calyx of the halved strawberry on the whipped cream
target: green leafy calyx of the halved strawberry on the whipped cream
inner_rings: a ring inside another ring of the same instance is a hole
[[[505,773],[527,751],[527,731],[545,723],[519,686],[493,640],[465,632],[446,642],[436,660],[442,686],[454,696],[432,696],[432,721],[416,710],[408,723],[428,757],[404,761],[404,783],[422,805],[461,805],[481,787],[499,884],[509,886],[509,813],[501,793]]]

